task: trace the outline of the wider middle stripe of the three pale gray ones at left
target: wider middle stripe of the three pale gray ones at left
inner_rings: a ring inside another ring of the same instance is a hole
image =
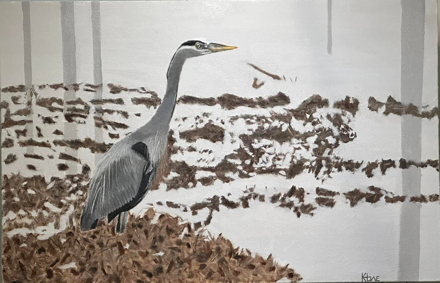
[[[75,44],[75,15],[73,2],[60,2],[61,4],[61,34],[62,34],[62,76],[63,81],[67,85],[68,90],[64,91],[64,112],[68,107],[74,105],[67,105],[66,102],[76,99],[75,91],[71,87],[72,83],[77,80],[76,67],[76,44]],[[77,124],[76,122],[64,122],[64,138],[67,140],[77,138]],[[78,152],[74,149],[66,148],[66,153],[72,156],[77,156]],[[70,162],[67,173],[77,173],[77,163]]]

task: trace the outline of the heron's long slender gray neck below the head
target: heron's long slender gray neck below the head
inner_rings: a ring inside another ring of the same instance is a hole
[[[167,86],[165,96],[159,105],[158,110],[151,120],[156,120],[158,123],[169,124],[176,106],[177,89],[179,87],[180,73],[182,72],[183,63],[186,58],[180,54],[179,51],[174,54],[168,68]]]

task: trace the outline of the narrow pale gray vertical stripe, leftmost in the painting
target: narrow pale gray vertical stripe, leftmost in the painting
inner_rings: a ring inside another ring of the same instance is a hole
[[[26,88],[26,106],[30,107],[28,119],[33,121],[33,86],[32,86],[32,52],[30,40],[30,4],[29,1],[22,2],[23,11],[23,50],[24,50],[24,75]],[[26,124],[27,136],[33,138],[33,123]],[[33,146],[26,147],[27,153],[34,153]]]

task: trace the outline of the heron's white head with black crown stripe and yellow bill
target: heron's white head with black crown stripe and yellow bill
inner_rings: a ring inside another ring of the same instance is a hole
[[[232,50],[237,47],[210,42],[205,39],[194,39],[185,41],[180,45],[178,51],[184,53],[187,58],[197,57],[209,53]]]

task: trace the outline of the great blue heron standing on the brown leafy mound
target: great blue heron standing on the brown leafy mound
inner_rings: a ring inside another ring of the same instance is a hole
[[[143,200],[158,176],[183,63],[188,58],[235,48],[207,40],[188,40],[180,45],[169,64],[165,97],[154,116],[113,145],[97,164],[81,215],[82,231],[94,229],[100,218],[107,216],[110,223],[117,216],[116,231],[124,232],[128,210]]]

